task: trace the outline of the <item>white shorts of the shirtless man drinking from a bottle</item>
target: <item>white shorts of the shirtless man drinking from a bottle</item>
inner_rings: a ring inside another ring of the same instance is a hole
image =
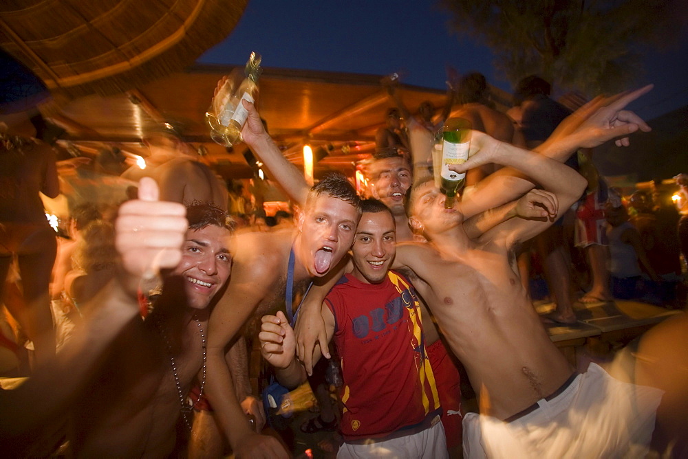
[[[662,394],[591,363],[559,396],[511,423],[467,413],[464,457],[642,458]]]

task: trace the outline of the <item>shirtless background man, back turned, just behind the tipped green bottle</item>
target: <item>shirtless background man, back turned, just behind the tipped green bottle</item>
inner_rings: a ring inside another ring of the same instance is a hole
[[[482,74],[468,74],[461,78],[456,98],[461,108],[453,113],[454,116],[469,120],[476,131],[484,132],[502,142],[524,146],[511,118],[488,106],[487,82]],[[495,164],[485,164],[469,170],[466,174],[466,186],[475,185],[498,168]]]

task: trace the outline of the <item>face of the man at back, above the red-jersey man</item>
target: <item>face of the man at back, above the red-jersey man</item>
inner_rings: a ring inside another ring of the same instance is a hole
[[[377,159],[370,166],[373,196],[383,201],[395,215],[405,213],[404,199],[411,187],[411,166],[403,157]]]

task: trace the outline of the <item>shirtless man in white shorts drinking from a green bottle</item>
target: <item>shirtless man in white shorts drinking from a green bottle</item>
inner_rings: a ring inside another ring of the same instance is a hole
[[[600,118],[612,121],[608,131],[627,133],[635,131],[638,125],[643,126],[630,113],[614,115],[643,90],[619,98],[609,109],[605,107],[599,112]],[[595,115],[590,117],[592,124],[601,120],[595,118]],[[605,137],[614,137],[601,129],[604,128],[587,130],[583,122],[572,131],[570,141],[594,146]],[[621,142],[627,144],[627,140]],[[652,432],[654,409],[658,404],[656,391],[610,380],[594,365],[584,375],[576,376],[545,333],[528,295],[517,281],[515,245],[550,225],[557,207],[566,208],[579,197],[585,180],[567,166],[483,134],[473,132],[471,143],[471,148],[478,148],[481,153],[456,166],[458,172],[489,162],[515,166],[552,193],[535,191],[541,195],[550,217],[546,221],[506,221],[475,241],[469,240],[461,227],[464,202],[445,210],[444,197],[431,182],[421,183],[413,193],[411,224],[431,244],[400,247],[395,265],[413,270],[413,284],[433,311],[451,349],[466,366],[471,384],[480,396],[484,416],[466,415],[464,438],[468,441],[464,442],[464,451],[468,456],[477,457],[484,454],[575,457],[623,454],[634,451],[636,446],[642,448]],[[301,312],[300,320],[307,311]],[[588,414],[587,430],[581,430],[578,423],[567,418],[566,408],[558,413],[546,408],[545,415],[541,414],[542,408],[537,410],[537,407],[553,406],[561,399],[565,399],[561,406],[568,406],[575,393],[580,394],[576,412]],[[608,405],[602,402],[612,400],[612,396],[615,397],[611,412],[618,418],[608,423],[601,415],[608,410]],[[632,423],[632,413],[636,410],[639,414]],[[552,416],[550,421],[564,428],[549,427],[543,434],[537,427],[548,424],[541,421],[544,416]],[[607,436],[614,422],[623,424],[622,432]],[[562,440],[548,435],[554,431],[568,437]],[[608,438],[614,441],[598,443]],[[633,440],[638,440],[638,445],[633,445]]]

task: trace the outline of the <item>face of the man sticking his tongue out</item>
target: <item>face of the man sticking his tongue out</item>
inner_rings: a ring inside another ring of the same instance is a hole
[[[351,247],[358,210],[347,201],[323,193],[310,201],[297,223],[303,265],[310,276],[321,277]]]

